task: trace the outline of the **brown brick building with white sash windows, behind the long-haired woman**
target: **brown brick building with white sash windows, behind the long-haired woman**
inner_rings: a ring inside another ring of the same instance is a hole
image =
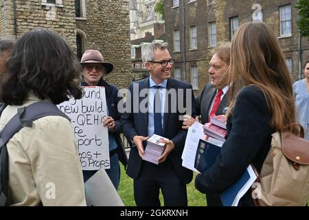
[[[308,39],[297,33],[296,0],[165,0],[165,38],[176,59],[173,76],[192,83],[195,94],[209,81],[213,49],[231,40],[244,21],[264,21],[275,31],[294,80],[304,78]],[[179,46],[177,46],[179,45]]]

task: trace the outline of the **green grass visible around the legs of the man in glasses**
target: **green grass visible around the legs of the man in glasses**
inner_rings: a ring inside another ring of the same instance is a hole
[[[121,165],[122,175],[120,179],[120,185],[118,193],[122,198],[125,206],[136,206],[133,196],[133,179],[126,175],[124,166]],[[193,180],[190,184],[187,184],[187,201],[188,206],[206,206],[205,194],[198,192],[194,187],[194,179],[196,173],[194,173]],[[163,206],[163,197],[160,194],[161,206]]]

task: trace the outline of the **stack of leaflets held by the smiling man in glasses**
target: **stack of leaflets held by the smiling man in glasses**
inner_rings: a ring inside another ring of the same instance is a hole
[[[143,155],[143,159],[153,164],[159,164],[158,158],[162,155],[165,149],[165,143],[161,140],[168,140],[160,135],[152,135],[147,140],[146,150]]]

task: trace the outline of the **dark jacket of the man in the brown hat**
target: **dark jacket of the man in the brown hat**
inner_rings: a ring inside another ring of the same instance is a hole
[[[82,82],[82,86],[87,86],[87,83]],[[113,135],[115,137],[115,142],[117,144],[117,153],[119,157],[119,161],[122,162],[124,168],[128,164],[128,157],[126,156],[126,151],[124,151],[124,143],[122,142],[122,138],[120,134],[122,133],[122,126],[120,122],[121,114],[117,109],[118,102],[122,100],[122,97],[118,97],[118,89],[114,85],[106,83],[102,78],[100,79],[97,86],[105,87],[105,96],[106,96],[106,105],[108,108],[109,115],[115,120],[115,132]],[[110,132],[110,131],[108,131]]]

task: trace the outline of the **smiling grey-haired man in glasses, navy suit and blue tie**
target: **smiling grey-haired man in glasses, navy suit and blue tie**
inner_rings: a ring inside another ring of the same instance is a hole
[[[160,189],[165,206],[187,206],[186,184],[192,181],[192,171],[181,166],[187,135],[181,126],[185,113],[195,115],[194,95],[191,85],[170,78],[174,61],[167,45],[152,42],[143,48],[142,58],[150,77],[131,83],[126,98],[126,108],[130,108],[122,115],[124,135],[132,143],[126,173],[134,179],[137,206],[160,206]],[[139,95],[141,90],[146,91],[146,98]],[[147,103],[143,108],[144,100]],[[155,107],[156,102],[161,107]],[[153,134],[168,138],[159,164],[142,159],[146,140]]]

